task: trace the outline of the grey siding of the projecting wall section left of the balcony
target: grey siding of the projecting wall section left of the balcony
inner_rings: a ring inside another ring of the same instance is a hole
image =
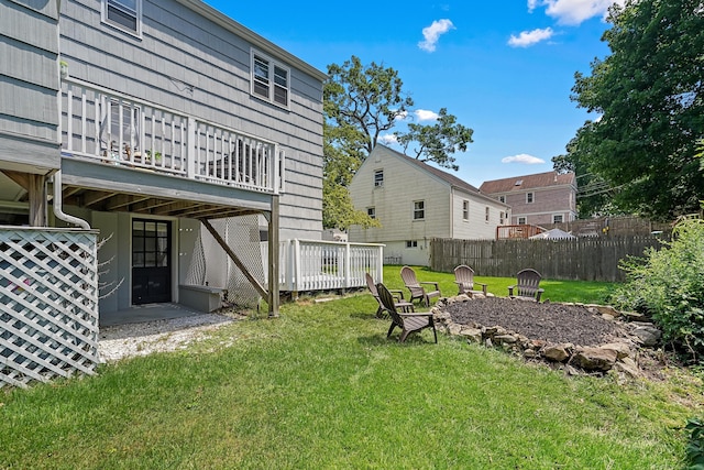
[[[56,0],[0,2],[2,167],[28,173],[59,167],[57,21]]]

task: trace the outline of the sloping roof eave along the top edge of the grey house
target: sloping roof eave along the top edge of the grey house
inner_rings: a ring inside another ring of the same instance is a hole
[[[273,42],[266,40],[265,37],[256,34],[254,31],[238,23],[230,17],[216,10],[215,8],[202,2],[201,0],[176,0],[176,1],[183,4],[184,7],[188,8],[189,10],[195,11],[201,17],[212,21],[216,24],[219,24],[226,30],[231,31],[238,36],[246,40],[249,43],[251,43],[262,52],[265,52],[266,54],[273,57],[276,57],[282,62],[287,63],[288,65],[310,75],[311,77],[320,81],[324,81],[328,79],[328,75],[326,73],[301,61],[300,58],[296,57],[292,53],[283,50],[282,47],[277,46]]]

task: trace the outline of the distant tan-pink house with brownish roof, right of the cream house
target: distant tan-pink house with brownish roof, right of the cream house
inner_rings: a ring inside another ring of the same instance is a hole
[[[510,206],[510,225],[549,226],[576,219],[574,173],[494,179],[484,182],[480,190]]]

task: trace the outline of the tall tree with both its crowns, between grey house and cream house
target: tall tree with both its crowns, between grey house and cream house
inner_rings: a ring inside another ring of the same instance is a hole
[[[344,195],[352,176],[372,152],[381,135],[405,120],[414,100],[404,90],[398,72],[352,56],[342,65],[328,66],[323,87],[323,227],[378,226],[366,214],[354,211]],[[452,154],[466,151],[472,130],[441,109],[435,124],[409,123],[408,132],[395,135],[405,149],[413,142],[416,157],[458,170]]]

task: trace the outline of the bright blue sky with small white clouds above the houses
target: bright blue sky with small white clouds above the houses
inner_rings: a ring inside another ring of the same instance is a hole
[[[398,70],[416,122],[447,108],[474,130],[457,176],[479,187],[552,170],[596,118],[570,94],[574,73],[608,54],[601,36],[614,1],[206,2],[322,72],[352,55]]]

